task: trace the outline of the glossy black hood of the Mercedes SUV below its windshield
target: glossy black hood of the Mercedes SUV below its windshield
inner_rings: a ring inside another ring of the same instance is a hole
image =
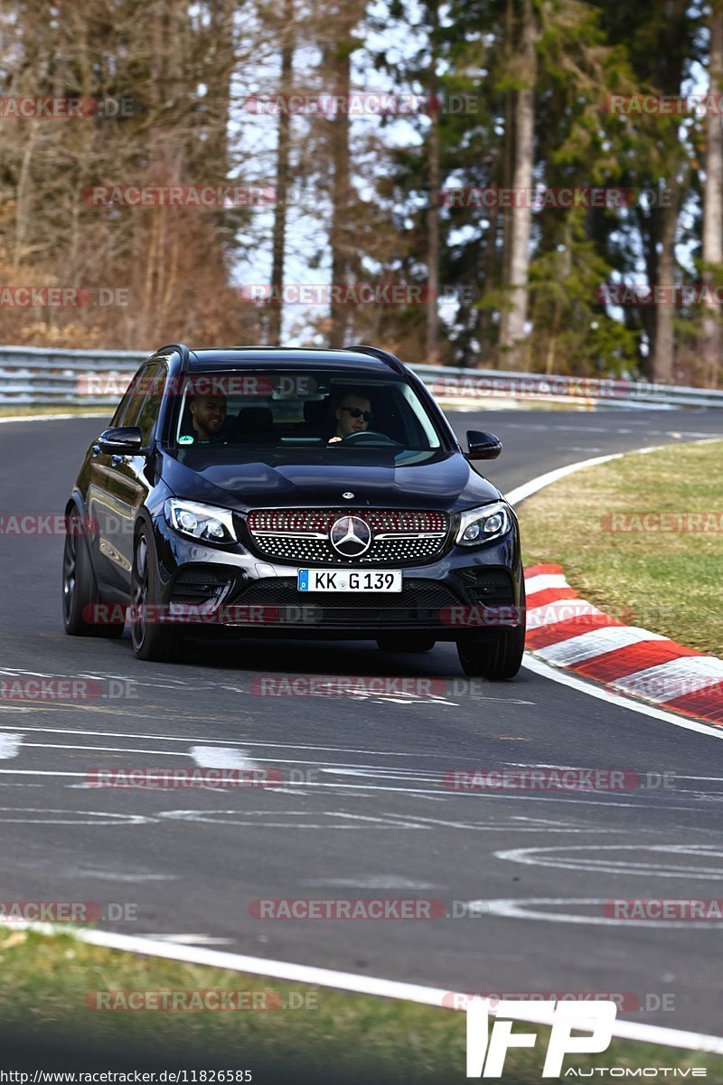
[[[208,501],[240,512],[281,506],[331,506],[429,509],[454,512],[500,498],[461,452],[438,454],[427,462],[396,465],[391,457],[330,464],[327,459],[296,457],[283,462],[196,461],[191,467],[166,456],[164,478],[179,497]],[[353,498],[344,498],[351,493]]]

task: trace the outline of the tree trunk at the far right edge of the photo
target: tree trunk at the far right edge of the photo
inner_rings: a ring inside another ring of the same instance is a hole
[[[713,2],[709,22],[709,94],[720,95],[723,85],[723,5]],[[706,118],[706,187],[702,213],[702,263],[703,282],[712,285],[716,270],[712,265],[723,264],[723,125],[716,110],[711,110]],[[709,387],[716,387],[721,366],[721,305],[711,303],[709,312],[702,319],[701,355],[705,363],[705,381]]]

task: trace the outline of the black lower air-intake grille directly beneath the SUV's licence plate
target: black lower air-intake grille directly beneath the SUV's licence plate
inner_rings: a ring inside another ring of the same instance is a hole
[[[399,592],[298,591],[296,580],[274,577],[255,580],[233,599],[233,605],[277,608],[298,613],[299,624],[444,625],[444,613],[460,600],[434,580],[405,579]],[[299,613],[300,612],[300,613]]]

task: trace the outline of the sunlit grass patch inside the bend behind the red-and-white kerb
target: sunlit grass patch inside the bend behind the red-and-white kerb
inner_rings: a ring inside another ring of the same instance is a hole
[[[723,654],[722,458],[723,442],[692,443],[554,483],[520,507],[525,564],[560,564],[612,617]]]

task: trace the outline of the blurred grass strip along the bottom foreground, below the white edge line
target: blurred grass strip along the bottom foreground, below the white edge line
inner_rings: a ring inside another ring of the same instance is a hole
[[[263,996],[257,996],[257,1005],[274,1008],[114,1012],[89,1006],[98,1005],[95,992],[115,992],[111,1004],[122,1006],[128,992],[160,991],[256,992]],[[464,1013],[121,954],[66,933],[0,929],[0,1027],[24,1036],[30,1029],[30,1035],[42,1037],[46,1055],[53,1054],[55,1041],[91,1057],[98,1052],[98,1067],[105,1070],[118,1069],[120,1051],[135,1069],[146,1067],[151,1055],[154,1069],[256,1068],[262,1071],[254,1073],[259,1082],[466,1081]],[[547,1030],[517,1030],[543,1035],[534,1049],[509,1052],[503,1085],[539,1083]],[[38,1052],[40,1060],[40,1047]],[[3,1055],[3,1067],[10,1068],[10,1052]],[[709,1080],[723,1081],[723,1057],[643,1044],[614,1042],[604,1055],[579,1056],[570,1064],[584,1070],[706,1067]]]

